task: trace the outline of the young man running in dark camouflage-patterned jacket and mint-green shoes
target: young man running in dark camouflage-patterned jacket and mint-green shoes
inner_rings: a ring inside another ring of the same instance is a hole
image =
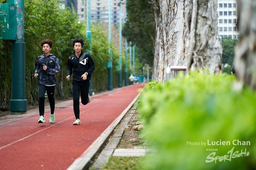
[[[35,74],[34,77],[38,78],[38,91],[39,91],[39,115],[40,118],[38,123],[44,123],[44,94],[47,92],[47,96],[50,103],[51,116],[50,123],[54,123],[55,121],[55,100],[54,100],[54,91],[55,86],[57,85],[57,81],[55,79],[55,74],[60,71],[60,61],[57,57],[50,54],[52,50],[53,42],[50,39],[42,40],[40,42],[42,46],[42,51],[44,51],[43,55],[38,56],[36,64],[35,64]]]

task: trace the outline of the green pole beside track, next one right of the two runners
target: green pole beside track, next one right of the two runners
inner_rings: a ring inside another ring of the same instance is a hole
[[[113,90],[113,69],[112,69],[112,49],[110,47],[112,41],[111,35],[111,25],[112,25],[112,14],[111,14],[111,0],[109,0],[108,4],[108,40],[109,40],[109,50],[108,54],[110,55],[110,60],[108,61],[108,90]]]

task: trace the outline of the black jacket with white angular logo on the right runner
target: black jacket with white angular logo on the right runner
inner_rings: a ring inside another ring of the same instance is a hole
[[[67,69],[68,73],[67,76],[73,74],[73,80],[76,81],[86,81],[86,80],[91,80],[92,78],[92,72],[95,69],[94,66],[94,61],[92,60],[92,57],[90,54],[85,53],[83,55],[83,51],[81,51],[80,56],[77,58],[75,52],[73,53],[72,56],[68,58],[68,64],[67,64]],[[84,57],[83,57],[84,56]],[[81,58],[82,57],[82,58]],[[82,74],[85,72],[88,72],[86,80],[82,80]]]

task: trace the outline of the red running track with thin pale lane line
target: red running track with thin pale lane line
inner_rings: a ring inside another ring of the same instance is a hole
[[[73,104],[55,109],[56,121],[37,123],[39,113],[0,124],[0,170],[66,170],[129,106],[144,84],[92,96],[80,104],[80,125]]]

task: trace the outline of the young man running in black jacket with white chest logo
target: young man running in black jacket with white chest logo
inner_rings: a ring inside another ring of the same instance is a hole
[[[76,121],[73,125],[80,125],[80,108],[79,108],[79,96],[81,93],[81,103],[86,105],[90,103],[91,97],[89,95],[89,86],[92,78],[92,72],[95,69],[94,61],[90,54],[82,51],[84,46],[84,40],[82,38],[74,39],[73,47],[75,52],[68,58],[67,64],[67,80],[70,80],[70,76],[73,72],[73,108]]]

